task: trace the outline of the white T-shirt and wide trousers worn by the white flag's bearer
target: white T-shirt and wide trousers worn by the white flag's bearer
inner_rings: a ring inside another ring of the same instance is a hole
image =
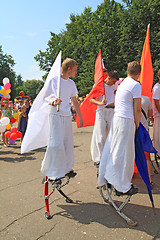
[[[74,164],[72,120],[70,98],[78,93],[74,81],[60,79],[60,99],[62,103],[57,112],[50,106],[50,135],[41,171],[51,179],[63,177],[72,170]],[[50,97],[48,97],[50,98]],[[48,98],[45,100],[48,101]]]

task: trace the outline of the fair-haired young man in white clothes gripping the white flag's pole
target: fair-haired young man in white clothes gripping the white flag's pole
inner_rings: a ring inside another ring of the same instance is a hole
[[[59,180],[66,174],[74,177],[74,148],[72,133],[72,118],[70,110],[70,98],[80,118],[80,127],[83,126],[83,119],[76,99],[78,93],[76,85],[69,77],[75,77],[78,64],[75,60],[67,58],[62,63],[60,79],[60,98],[50,102],[50,136],[45,157],[42,161],[41,172],[50,180]],[[53,93],[51,93],[52,95]],[[50,96],[45,99],[49,101]],[[57,112],[57,105],[60,109]]]

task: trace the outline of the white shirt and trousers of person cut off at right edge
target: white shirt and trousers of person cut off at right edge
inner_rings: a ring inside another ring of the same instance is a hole
[[[156,83],[153,87],[153,100],[159,100],[160,104],[160,83]],[[155,149],[158,151],[158,155],[160,155],[160,113],[158,112],[155,103],[153,101],[153,143]]]

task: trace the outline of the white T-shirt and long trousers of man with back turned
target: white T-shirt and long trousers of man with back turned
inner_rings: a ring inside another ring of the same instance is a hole
[[[141,98],[141,86],[127,77],[116,92],[115,113],[99,166],[98,185],[104,185],[106,179],[124,193],[131,188],[134,172],[134,98]]]

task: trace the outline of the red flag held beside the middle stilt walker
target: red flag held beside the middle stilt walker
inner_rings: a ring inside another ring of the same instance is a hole
[[[81,114],[84,120],[84,127],[94,125],[97,105],[90,103],[90,99],[103,96],[105,94],[104,79],[105,78],[104,78],[103,65],[102,65],[102,53],[101,53],[101,50],[99,50],[99,54],[95,62],[95,75],[94,75],[95,85],[91,90],[91,92],[88,94],[87,98],[84,100],[84,102],[80,106]],[[78,115],[76,117],[76,122],[77,122],[77,127],[79,127],[80,122],[79,122]]]

